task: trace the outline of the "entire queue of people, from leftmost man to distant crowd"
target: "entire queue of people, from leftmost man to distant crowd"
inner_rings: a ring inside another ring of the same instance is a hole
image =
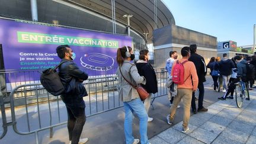
[[[58,46],[56,52],[59,58],[62,59],[59,66],[60,80],[65,86],[66,91],[69,91],[61,95],[68,113],[69,140],[72,144],[85,143],[88,141],[88,138],[81,139],[80,136],[86,120],[83,97],[88,94],[82,82],[88,78],[88,74],[79,69],[73,62],[75,53],[70,46]],[[190,47],[183,47],[180,53],[182,58],[177,59],[178,55],[176,51],[169,52],[170,57],[167,59],[165,66],[168,72],[168,99],[171,106],[171,110],[167,116],[167,123],[172,124],[176,110],[180,107],[179,104],[182,99],[184,107],[183,133],[189,130],[190,110],[194,114],[208,110],[203,107],[203,82],[206,81],[207,68],[210,68],[215,91],[220,91],[223,83],[222,91],[225,94],[219,98],[220,100],[225,100],[226,98],[233,99],[235,83],[238,81],[250,82],[250,88],[254,84],[256,56],[252,56],[246,60],[241,56],[228,59],[228,56],[223,54],[222,60],[220,60],[220,57],[212,57],[206,66],[204,58],[197,54],[196,44],[191,44]],[[148,144],[148,122],[153,120],[153,117],[149,117],[149,107],[152,101],[152,94],[158,92],[156,73],[152,65],[148,62],[150,59],[149,51],[146,49],[140,50],[139,60],[135,65],[131,62],[135,59],[132,47],[123,46],[117,49],[116,59],[119,65],[116,72],[119,79],[117,89],[119,91],[119,97],[123,101],[125,114],[125,141],[129,144],[139,142]],[[251,69],[248,71],[249,65]],[[248,75],[250,75],[250,78],[248,78]],[[218,80],[219,83],[217,82]],[[136,87],[134,87],[137,84],[142,85],[145,91],[148,92],[148,97],[143,101],[140,99]],[[199,100],[198,107],[196,108],[195,91],[197,89],[199,89]],[[139,117],[140,139],[135,139],[132,135],[134,113]]]

